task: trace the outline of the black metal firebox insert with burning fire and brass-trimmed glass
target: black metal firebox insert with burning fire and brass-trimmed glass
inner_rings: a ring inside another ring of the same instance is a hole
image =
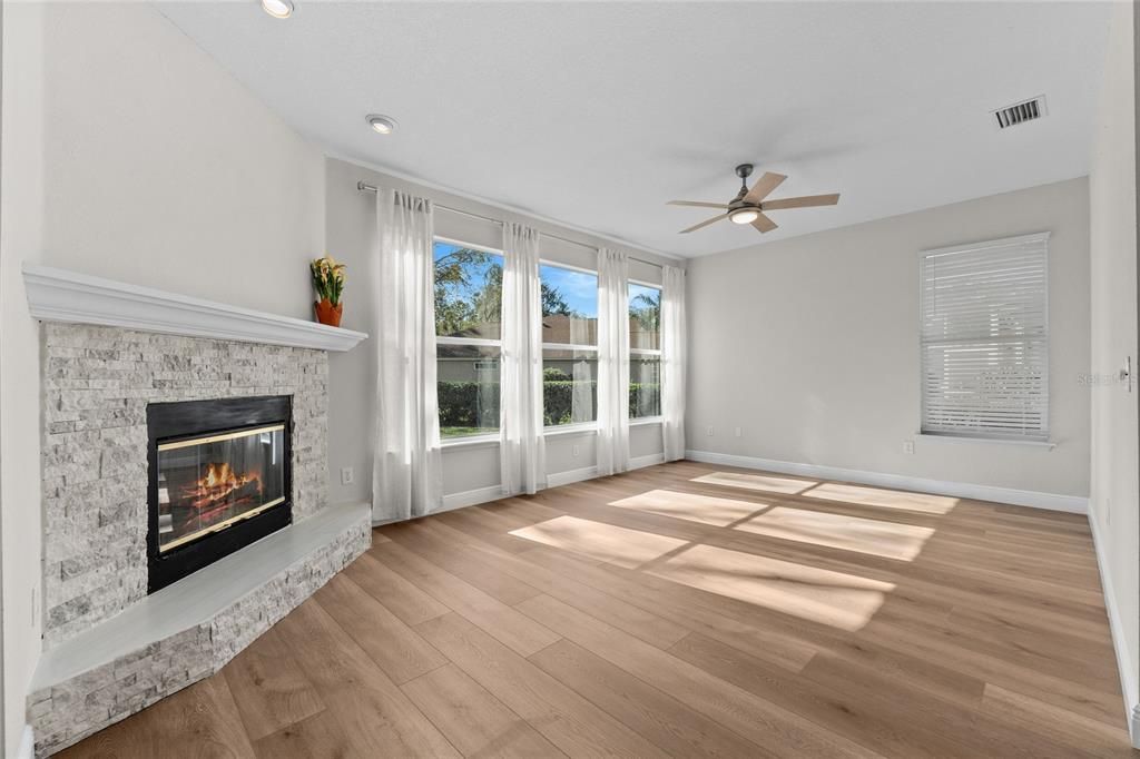
[[[292,522],[292,399],[147,407],[147,591]]]

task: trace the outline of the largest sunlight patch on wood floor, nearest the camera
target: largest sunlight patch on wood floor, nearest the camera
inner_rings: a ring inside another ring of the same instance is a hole
[[[895,589],[891,582],[700,544],[645,572],[844,630],[866,625]]]

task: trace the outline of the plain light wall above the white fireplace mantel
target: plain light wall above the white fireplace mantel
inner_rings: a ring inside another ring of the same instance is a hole
[[[48,19],[44,263],[311,319],[320,150],[148,5]]]

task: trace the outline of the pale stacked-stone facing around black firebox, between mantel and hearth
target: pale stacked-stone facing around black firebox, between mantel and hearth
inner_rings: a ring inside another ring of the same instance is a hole
[[[324,351],[43,325],[43,640],[147,595],[147,406],[291,395],[293,515],[325,507]]]

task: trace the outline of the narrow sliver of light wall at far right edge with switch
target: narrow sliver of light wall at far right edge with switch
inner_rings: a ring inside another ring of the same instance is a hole
[[[1137,358],[1137,46],[1132,3],[1113,16],[1105,83],[1089,177],[1092,246],[1092,492],[1109,618],[1124,671],[1125,697],[1140,693],[1140,545],[1138,545],[1137,394],[1115,377]],[[1133,734],[1133,740],[1137,736]]]

